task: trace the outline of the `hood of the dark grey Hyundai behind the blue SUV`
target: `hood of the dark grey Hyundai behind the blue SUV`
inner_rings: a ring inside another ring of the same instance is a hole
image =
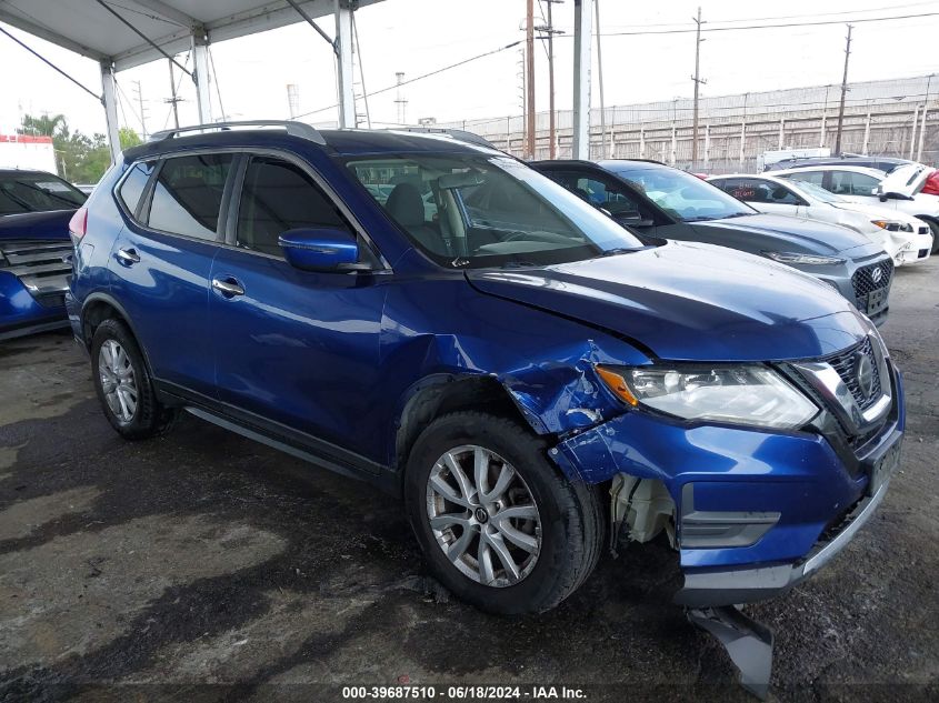
[[[716,229],[735,228],[763,237],[771,237],[778,241],[778,251],[783,251],[786,244],[795,245],[796,251],[817,254],[857,255],[861,252],[853,250],[859,247],[870,247],[871,242],[862,234],[837,224],[828,224],[818,220],[803,220],[780,214],[755,213],[742,218],[727,218],[691,222],[692,228],[703,234]]]

